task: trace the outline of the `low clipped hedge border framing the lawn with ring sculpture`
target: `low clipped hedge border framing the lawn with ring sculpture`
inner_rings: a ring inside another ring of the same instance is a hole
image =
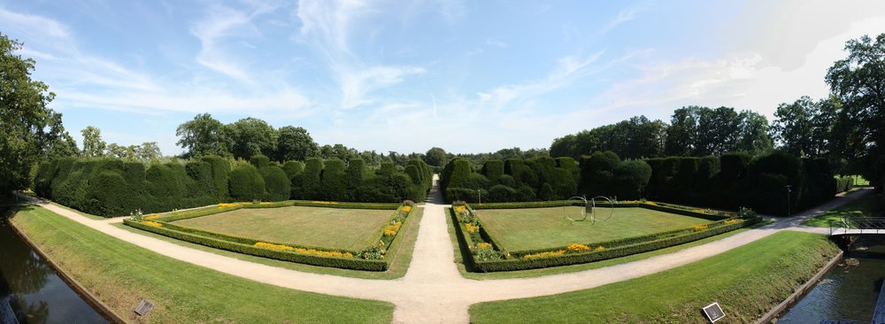
[[[567,202],[567,201],[566,201]],[[543,207],[554,207],[561,206],[564,201],[555,201],[555,202],[530,202],[530,203],[495,203],[495,204],[484,204],[477,209],[516,209],[516,208],[543,208]],[[574,202],[573,205],[581,205],[581,202]],[[473,212],[472,206],[469,204],[465,204],[466,208],[469,212]],[[496,243],[494,239],[494,235],[489,235],[487,229],[480,225],[480,235],[483,239],[486,239],[488,243],[491,243],[492,246],[496,249],[496,251],[501,251],[504,254],[504,259],[500,260],[477,260],[476,256],[473,254],[473,247],[475,246],[475,242],[467,234],[465,225],[460,221],[458,217],[458,212],[455,212],[455,205],[449,208],[450,217],[452,221],[458,223],[456,227],[458,230],[458,242],[466,244],[466,248],[470,251],[470,261],[473,264],[473,268],[480,272],[496,272],[496,271],[516,271],[516,270],[528,270],[535,268],[543,268],[550,266],[569,266],[581,263],[589,263],[600,261],[609,258],[620,258],[625,257],[632,254],[643,253],[647,251],[655,251],[659,249],[668,248],[675,245],[680,245],[683,243],[694,242],[700,239],[704,239],[706,237],[710,237],[713,235],[720,235],[722,233],[727,233],[733,231],[735,229],[744,228],[751,226],[753,224],[758,223],[762,220],[761,217],[756,217],[752,219],[738,219],[734,217],[725,217],[719,214],[708,214],[703,212],[693,212],[688,211],[682,208],[674,208],[669,204],[661,205],[658,203],[641,203],[641,202],[628,202],[628,203],[620,203],[616,204],[616,207],[639,207],[639,208],[647,208],[651,210],[657,210],[661,212],[671,212],[677,213],[685,216],[698,217],[705,220],[715,220],[712,224],[706,224],[708,227],[704,230],[695,230],[694,228],[681,228],[676,230],[670,230],[666,232],[655,233],[651,235],[640,235],[622,238],[618,240],[612,240],[608,242],[602,243],[593,243],[592,245],[597,246],[605,246],[604,251],[585,251],[579,253],[568,253],[554,257],[547,258],[522,258],[527,254],[535,254],[545,251],[559,251],[566,250],[566,247],[558,247],[558,248],[547,248],[547,249],[537,249],[537,250],[527,250],[527,251],[506,251],[503,247]],[[476,218],[479,220],[481,224],[481,219],[479,217]],[[738,222],[732,224],[726,224],[726,220],[739,220]],[[715,225],[713,225],[715,224]]]

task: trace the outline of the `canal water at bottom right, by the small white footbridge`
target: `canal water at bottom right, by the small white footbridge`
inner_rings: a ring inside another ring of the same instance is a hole
[[[845,251],[814,288],[777,321],[820,323],[843,320],[866,324],[873,320],[882,278],[885,277],[885,238],[860,237]]]

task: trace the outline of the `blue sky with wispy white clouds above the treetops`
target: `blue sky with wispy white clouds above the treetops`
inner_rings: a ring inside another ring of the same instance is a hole
[[[0,31],[80,142],[158,142],[197,113],[358,150],[549,147],[688,104],[827,95],[883,1],[2,1]]]

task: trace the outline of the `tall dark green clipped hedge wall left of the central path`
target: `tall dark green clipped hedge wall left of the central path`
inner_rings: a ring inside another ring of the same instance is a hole
[[[263,156],[252,157],[250,163],[209,156],[150,165],[118,158],[57,158],[36,167],[34,190],[82,212],[120,216],[289,198],[423,201],[432,178],[427,164],[417,159],[409,162],[408,171],[391,164],[377,174],[359,159],[349,165],[342,160],[325,165],[322,159],[311,158],[306,164],[289,161],[281,167]]]

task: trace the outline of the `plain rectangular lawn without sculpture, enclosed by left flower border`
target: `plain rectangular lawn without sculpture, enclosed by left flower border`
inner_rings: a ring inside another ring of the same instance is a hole
[[[174,224],[277,243],[360,251],[381,237],[393,210],[243,208]]]

